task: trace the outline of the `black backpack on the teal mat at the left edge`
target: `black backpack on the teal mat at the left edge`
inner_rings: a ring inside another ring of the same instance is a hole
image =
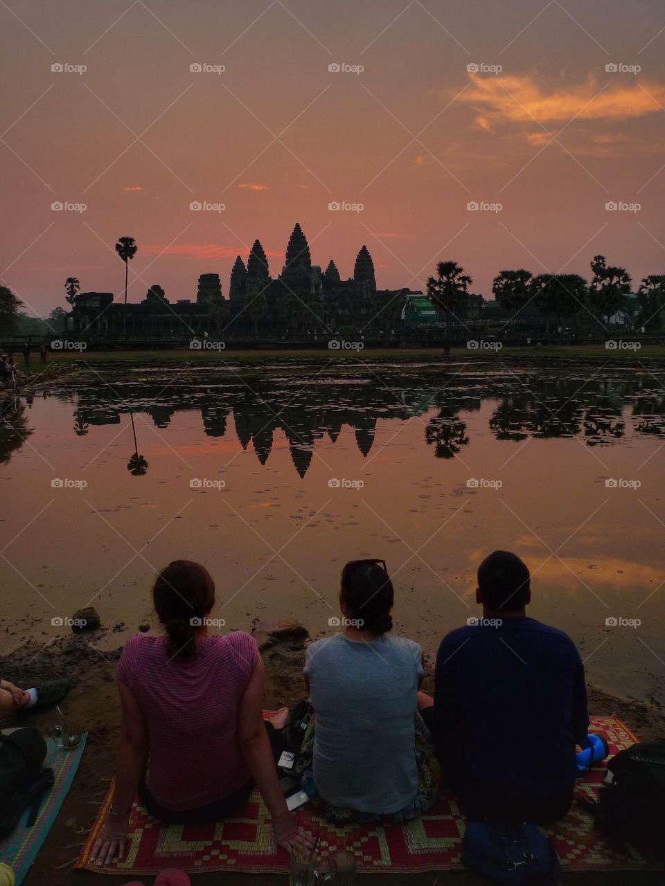
[[[53,770],[42,768],[44,758],[46,742],[38,729],[0,733],[0,839],[12,833],[30,804],[27,824],[35,823],[43,793],[53,783]]]

